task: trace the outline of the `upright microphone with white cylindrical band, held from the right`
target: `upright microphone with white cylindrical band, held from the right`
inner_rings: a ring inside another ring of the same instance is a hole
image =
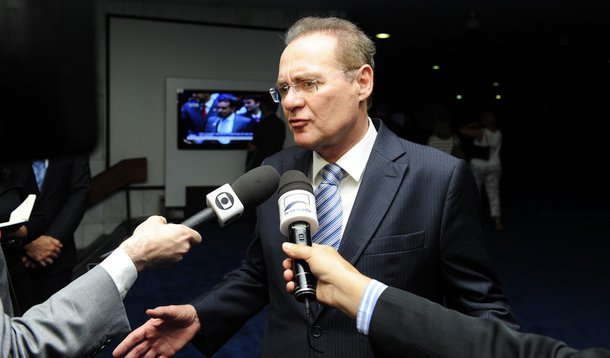
[[[278,192],[280,231],[294,244],[311,246],[311,234],[318,230],[318,216],[309,180],[300,171],[289,170],[280,177]],[[316,299],[316,277],[303,260],[293,261],[293,271],[294,296],[305,303],[305,316],[309,317],[309,302]]]

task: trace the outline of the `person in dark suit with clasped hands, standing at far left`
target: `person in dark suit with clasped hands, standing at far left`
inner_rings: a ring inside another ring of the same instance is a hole
[[[76,264],[74,232],[84,215],[91,187],[87,157],[51,158],[44,162],[46,170],[40,188],[32,162],[15,167],[22,194],[36,194],[30,220],[19,230],[23,246],[18,264],[27,269],[25,279],[14,276],[22,268],[15,268],[14,261],[7,257],[8,262],[13,262],[9,272],[22,312],[45,301],[72,280]],[[7,253],[12,255],[15,253]],[[28,289],[32,297],[27,297]]]

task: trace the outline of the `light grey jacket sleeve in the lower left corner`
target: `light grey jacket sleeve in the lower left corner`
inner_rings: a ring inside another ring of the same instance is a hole
[[[1,356],[83,357],[128,330],[111,277],[96,267],[22,317],[2,309]]]

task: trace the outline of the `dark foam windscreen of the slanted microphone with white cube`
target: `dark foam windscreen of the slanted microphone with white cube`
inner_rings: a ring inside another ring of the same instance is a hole
[[[277,190],[280,174],[270,165],[256,167],[240,176],[231,188],[244,207],[258,206]]]

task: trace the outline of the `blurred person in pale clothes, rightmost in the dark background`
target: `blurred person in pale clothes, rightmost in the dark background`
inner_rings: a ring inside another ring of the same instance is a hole
[[[474,138],[469,153],[470,167],[479,191],[485,188],[489,201],[489,214],[495,229],[503,230],[500,208],[500,178],[502,177],[502,132],[496,127],[496,117],[491,111],[481,113],[481,121],[460,128],[460,133]]]

